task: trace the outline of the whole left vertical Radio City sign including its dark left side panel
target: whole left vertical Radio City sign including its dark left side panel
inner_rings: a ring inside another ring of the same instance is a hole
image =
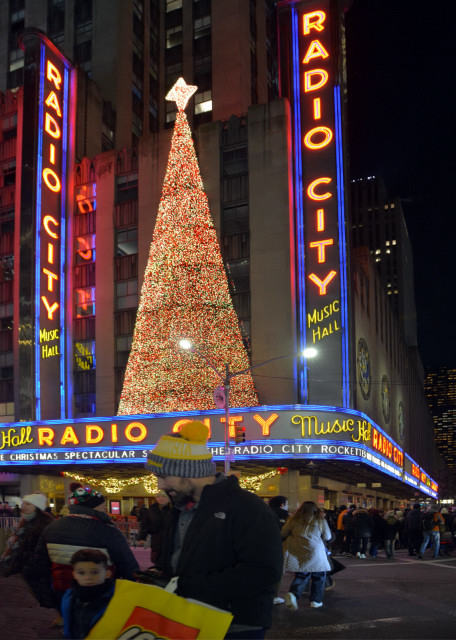
[[[32,406],[19,415],[65,418],[69,355],[67,324],[67,224],[72,184],[75,72],[46,36],[26,31],[21,174],[21,289],[34,273],[33,309],[19,293],[20,323],[30,320],[30,343],[19,341],[19,384],[30,376]],[[33,142],[33,144],[31,144]],[[33,170],[31,170],[33,168]],[[30,229],[33,234],[30,235]],[[29,255],[31,254],[31,255]],[[29,271],[26,264],[29,262]],[[33,268],[34,265],[34,268]],[[71,320],[71,316],[70,316]],[[25,353],[30,353],[30,361]],[[71,414],[70,414],[71,415]]]

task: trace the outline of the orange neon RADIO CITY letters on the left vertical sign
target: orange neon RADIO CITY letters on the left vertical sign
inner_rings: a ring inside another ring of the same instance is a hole
[[[47,59],[45,61],[47,81],[43,115],[43,169],[41,173],[43,195],[59,194],[62,190],[58,167],[62,157],[62,100],[63,78],[57,67]],[[46,201],[46,200],[45,200]],[[60,222],[54,215],[43,211],[41,230],[45,251],[41,256],[41,272],[45,276],[46,293],[41,296],[47,318],[54,320],[54,314],[60,307],[59,300],[59,247]],[[56,354],[57,355],[57,354]]]

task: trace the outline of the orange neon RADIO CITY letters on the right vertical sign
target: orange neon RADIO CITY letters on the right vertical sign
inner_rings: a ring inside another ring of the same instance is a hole
[[[311,11],[302,16],[301,37],[305,43],[305,54],[302,58],[302,88],[306,99],[306,111],[313,120],[311,128],[304,133],[302,143],[307,149],[306,153],[318,153],[328,147],[334,140],[334,129],[325,122],[325,99],[319,95],[330,81],[329,72],[323,68],[324,61],[331,62],[330,52],[320,41],[320,34],[326,30],[326,13],[324,11]],[[317,263],[324,265],[328,254],[336,246],[335,238],[327,232],[327,205],[334,197],[333,178],[319,176],[310,181],[305,187],[305,193],[310,206],[314,210],[315,229],[318,239],[308,243],[308,253],[314,256]],[[321,234],[321,237],[320,237]],[[309,273],[309,280],[315,285],[318,294],[324,296],[328,293],[331,282],[337,275],[334,269],[327,269],[317,275]]]

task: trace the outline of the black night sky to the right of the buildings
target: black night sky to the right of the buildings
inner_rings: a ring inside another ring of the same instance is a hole
[[[421,359],[456,367],[456,1],[354,0],[346,35],[350,177],[402,198]]]

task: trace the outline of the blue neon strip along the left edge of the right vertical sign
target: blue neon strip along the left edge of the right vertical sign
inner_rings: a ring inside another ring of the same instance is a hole
[[[299,72],[299,27],[296,7],[291,9],[292,47],[293,47],[293,112],[294,112],[294,196],[296,202],[296,286],[297,286],[297,341],[299,352],[306,348],[306,272],[305,272],[305,244],[304,244],[304,207],[303,207],[303,176],[301,157],[301,113],[300,113],[300,72]],[[298,367],[298,398],[308,401],[307,368],[303,358]]]

